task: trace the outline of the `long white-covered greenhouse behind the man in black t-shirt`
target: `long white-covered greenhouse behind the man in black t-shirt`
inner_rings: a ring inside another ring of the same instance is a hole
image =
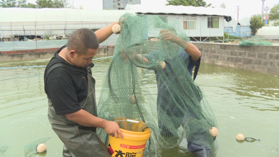
[[[0,8],[0,51],[61,47],[75,30],[105,28],[125,13],[135,14],[132,10]],[[100,47],[114,46],[117,36],[111,35]]]

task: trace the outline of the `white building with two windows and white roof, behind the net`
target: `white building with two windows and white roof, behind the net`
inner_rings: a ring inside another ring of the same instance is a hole
[[[232,16],[232,13],[226,9],[211,7],[127,4],[125,10],[133,10],[137,15],[160,15],[160,18],[166,22],[178,20],[183,25],[185,33],[197,41],[205,40],[208,37],[223,37],[224,20],[230,21]],[[148,32],[148,37],[154,37],[158,32]]]

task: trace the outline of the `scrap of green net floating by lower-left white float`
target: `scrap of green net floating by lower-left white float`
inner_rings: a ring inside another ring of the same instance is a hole
[[[30,142],[26,144],[24,148],[24,155],[23,157],[34,157],[37,154],[37,146],[41,143],[45,143],[50,137],[38,139],[36,141]]]

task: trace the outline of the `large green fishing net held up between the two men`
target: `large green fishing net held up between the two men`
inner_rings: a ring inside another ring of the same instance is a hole
[[[184,138],[210,148],[211,155],[216,155],[217,140],[210,136],[209,129],[218,128],[217,120],[187,70],[188,60],[181,55],[187,45],[182,48],[159,36],[160,30],[168,30],[190,41],[182,23],[162,21],[154,15],[126,13],[119,24],[121,33],[102,84],[98,117],[145,122],[151,138],[144,156],[156,156],[155,152],[161,148],[175,148]],[[167,66],[162,70],[163,61]],[[122,129],[127,128],[130,127]],[[98,128],[97,134],[107,145],[108,135],[104,130]]]

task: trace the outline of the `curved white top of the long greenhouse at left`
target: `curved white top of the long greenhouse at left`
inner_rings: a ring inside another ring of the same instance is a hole
[[[0,8],[0,26],[109,24],[131,10],[89,10],[69,8]]]

